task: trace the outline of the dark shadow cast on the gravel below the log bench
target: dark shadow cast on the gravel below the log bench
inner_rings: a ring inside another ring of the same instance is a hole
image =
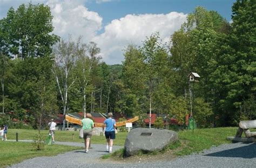
[[[239,158],[246,158],[246,159],[256,158],[256,143],[252,143],[247,146],[241,146],[239,148],[210,153],[205,156],[239,157]]]

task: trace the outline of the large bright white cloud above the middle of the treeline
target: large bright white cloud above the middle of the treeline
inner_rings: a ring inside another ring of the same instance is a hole
[[[122,50],[129,44],[142,45],[142,41],[154,32],[160,33],[163,41],[169,41],[171,34],[186,20],[184,13],[126,15],[112,20],[105,26],[105,32],[93,38],[102,49],[107,64],[120,64],[124,59]]]

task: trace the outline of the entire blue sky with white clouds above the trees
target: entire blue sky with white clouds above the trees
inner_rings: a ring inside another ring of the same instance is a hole
[[[196,6],[214,10],[231,22],[235,0],[0,0],[0,19],[22,3],[49,5],[53,33],[62,38],[94,41],[106,64],[122,64],[129,44],[141,46],[154,32],[168,42]]]

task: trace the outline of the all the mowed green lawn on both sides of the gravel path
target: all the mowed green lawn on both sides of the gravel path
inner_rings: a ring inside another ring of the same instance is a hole
[[[190,155],[193,152],[200,152],[204,149],[209,149],[211,146],[218,146],[224,143],[231,143],[226,140],[227,136],[234,136],[237,128],[211,128],[211,129],[196,129],[179,131],[178,136],[181,142],[181,148],[176,152],[176,155]],[[38,134],[38,130],[22,130],[9,129],[8,139],[16,139],[16,132],[18,139],[33,139]],[[41,134],[46,137],[48,130],[41,130]],[[114,145],[124,146],[127,132],[119,132]],[[84,142],[78,137],[78,131],[56,131],[56,141],[61,142]],[[92,136],[92,144],[105,144],[104,136]],[[31,143],[22,142],[0,142],[0,160],[4,160],[4,165],[11,165],[21,162],[24,159],[33,158],[37,156],[52,156],[58,153],[81,149],[73,146],[64,145],[46,145],[45,150],[35,151],[32,149]],[[0,167],[1,167],[0,166]]]

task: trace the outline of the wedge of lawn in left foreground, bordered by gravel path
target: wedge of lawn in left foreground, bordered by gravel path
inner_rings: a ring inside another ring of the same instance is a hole
[[[0,167],[22,162],[22,160],[38,157],[53,156],[67,151],[83,149],[76,146],[45,145],[44,150],[36,151],[31,143],[0,141]]]

